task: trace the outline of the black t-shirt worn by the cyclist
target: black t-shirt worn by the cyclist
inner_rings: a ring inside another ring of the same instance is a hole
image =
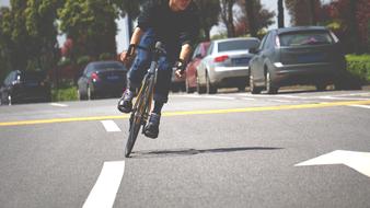
[[[150,0],[138,18],[138,27],[153,28],[159,41],[171,45],[193,45],[199,33],[198,8],[190,2],[184,11],[174,12],[169,0]]]

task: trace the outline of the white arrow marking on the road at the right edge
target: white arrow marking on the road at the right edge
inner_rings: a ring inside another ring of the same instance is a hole
[[[344,164],[370,177],[370,152],[336,150],[327,154],[301,162],[294,166]]]

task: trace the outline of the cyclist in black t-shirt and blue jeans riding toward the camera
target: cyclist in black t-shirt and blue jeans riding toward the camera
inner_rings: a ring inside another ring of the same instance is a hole
[[[139,14],[138,25],[127,51],[120,55],[120,59],[128,63],[137,51],[127,76],[127,89],[118,102],[120,112],[130,113],[132,99],[151,62],[151,53],[143,48],[153,48],[157,42],[161,42],[166,51],[158,62],[154,108],[144,127],[144,135],[149,138],[158,137],[161,111],[169,100],[173,67],[176,68],[176,77],[183,76],[192,53],[192,45],[199,33],[198,16],[198,9],[193,0],[150,0]]]

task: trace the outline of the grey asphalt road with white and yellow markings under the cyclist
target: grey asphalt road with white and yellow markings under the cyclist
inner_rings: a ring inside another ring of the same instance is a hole
[[[130,159],[116,102],[1,106],[0,207],[370,207],[370,91],[172,94]]]

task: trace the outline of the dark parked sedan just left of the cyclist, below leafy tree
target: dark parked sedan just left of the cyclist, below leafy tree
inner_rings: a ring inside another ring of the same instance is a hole
[[[90,62],[78,80],[80,100],[120,96],[126,88],[126,67],[118,61]]]

